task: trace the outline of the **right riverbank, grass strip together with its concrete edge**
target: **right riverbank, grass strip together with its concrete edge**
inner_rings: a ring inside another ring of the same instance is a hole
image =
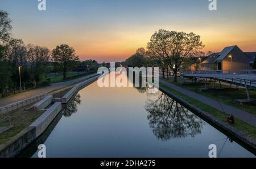
[[[232,136],[236,137],[241,142],[256,150],[255,126],[246,124],[239,119],[235,119],[236,123],[234,125],[230,125],[226,122],[227,116],[225,113],[209,107],[209,105],[190,98],[187,95],[181,94],[179,91],[176,91],[162,83],[160,83],[159,89],[168,96],[171,96],[171,98],[174,98],[178,102],[184,104],[188,109],[196,112],[199,116],[204,117],[204,119],[207,119],[216,126],[230,133]]]

